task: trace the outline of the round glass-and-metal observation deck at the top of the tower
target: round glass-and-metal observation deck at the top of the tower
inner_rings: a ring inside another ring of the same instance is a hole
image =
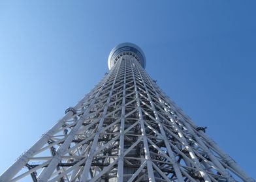
[[[110,70],[114,64],[122,57],[123,55],[131,55],[134,57],[138,62],[140,62],[141,66],[143,68],[146,68],[146,57],[138,47],[138,45],[135,45],[133,43],[125,42],[122,44],[116,45],[111,51],[108,56],[108,69]]]

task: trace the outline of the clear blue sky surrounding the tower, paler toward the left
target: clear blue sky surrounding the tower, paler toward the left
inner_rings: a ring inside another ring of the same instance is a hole
[[[256,178],[256,1],[1,1],[0,173],[133,42],[146,70]]]

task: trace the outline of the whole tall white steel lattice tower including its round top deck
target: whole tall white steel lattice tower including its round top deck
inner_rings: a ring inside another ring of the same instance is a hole
[[[131,43],[110,52],[100,83],[0,181],[254,181],[144,70]]]

